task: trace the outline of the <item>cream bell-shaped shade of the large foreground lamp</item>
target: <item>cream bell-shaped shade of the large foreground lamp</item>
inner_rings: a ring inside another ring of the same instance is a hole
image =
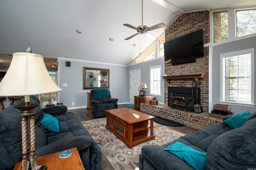
[[[34,53],[14,53],[0,83],[0,96],[38,95],[60,92],[50,77],[44,57]]]

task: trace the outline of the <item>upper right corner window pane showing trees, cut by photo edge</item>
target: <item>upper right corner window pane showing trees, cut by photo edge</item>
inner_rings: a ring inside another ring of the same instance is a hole
[[[256,10],[236,11],[236,37],[256,33]]]

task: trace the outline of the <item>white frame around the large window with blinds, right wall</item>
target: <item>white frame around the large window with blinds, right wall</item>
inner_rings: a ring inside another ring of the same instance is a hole
[[[238,101],[225,101],[223,98],[224,93],[224,85],[225,83],[225,73],[224,73],[224,65],[223,65],[223,59],[225,57],[231,57],[236,55],[242,55],[242,54],[251,54],[251,103],[240,103]],[[246,106],[246,107],[254,107],[254,48],[251,49],[244,49],[239,51],[233,51],[229,53],[222,53],[220,54],[220,101],[221,104],[229,104],[229,105],[238,105],[238,106]]]

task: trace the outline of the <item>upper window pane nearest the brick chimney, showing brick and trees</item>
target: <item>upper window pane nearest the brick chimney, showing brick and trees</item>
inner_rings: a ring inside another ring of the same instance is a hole
[[[228,12],[214,12],[214,42],[228,40]]]

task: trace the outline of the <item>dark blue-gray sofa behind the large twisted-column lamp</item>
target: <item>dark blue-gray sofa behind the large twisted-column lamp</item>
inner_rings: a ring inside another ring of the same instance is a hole
[[[30,103],[39,103],[30,96]],[[16,103],[24,104],[24,99]],[[86,170],[100,170],[101,150],[84,129],[73,113],[67,113],[66,106],[34,109],[36,132],[36,156],[42,156],[76,147]],[[16,162],[22,160],[21,117],[20,110],[13,106],[0,112],[0,169],[13,169]],[[59,121],[60,132],[51,132],[40,123],[47,113]]]

